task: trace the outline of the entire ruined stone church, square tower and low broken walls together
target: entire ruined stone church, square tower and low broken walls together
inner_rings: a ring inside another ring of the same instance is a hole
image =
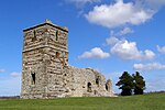
[[[110,79],[68,65],[67,28],[46,20],[23,32],[21,98],[113,96]]]

